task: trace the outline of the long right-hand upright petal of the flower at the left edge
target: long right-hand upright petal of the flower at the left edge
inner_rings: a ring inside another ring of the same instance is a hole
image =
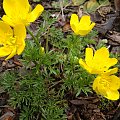
[[[16,37],[17,54],[21,54],[25,48],[26,29],[23,24],[14,27],[14,34]]]

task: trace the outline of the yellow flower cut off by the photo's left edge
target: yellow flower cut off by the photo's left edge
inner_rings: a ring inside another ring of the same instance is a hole
[[[16,54],[21,54],[25,47],[26,29],[18,24],[12,29],[8,24],[0,21],[0,57],[8,60]]]

